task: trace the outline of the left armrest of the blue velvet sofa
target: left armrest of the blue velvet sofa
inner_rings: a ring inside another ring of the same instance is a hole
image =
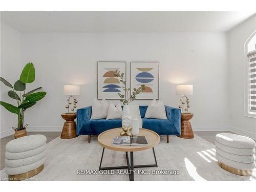
[[[82,125],[91,119],[92,106],[76,110],[76,134],[80,135]]]

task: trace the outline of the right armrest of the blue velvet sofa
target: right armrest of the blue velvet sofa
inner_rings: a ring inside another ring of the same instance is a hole
[[[174,124],[177,131],[181,132],[181,110],[165,105],[167,119]]]

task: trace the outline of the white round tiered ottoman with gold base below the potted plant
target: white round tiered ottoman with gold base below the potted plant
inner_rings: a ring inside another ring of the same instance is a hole
[[[45,163],[46,140],[44,135],[29,135],[6,144],[5,172],[9,180],[23,180],[41,172]]]

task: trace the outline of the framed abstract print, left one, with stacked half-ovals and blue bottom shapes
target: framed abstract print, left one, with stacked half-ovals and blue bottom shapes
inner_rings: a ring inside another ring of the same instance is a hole
[[[120,99],[118,93],[124,94],[118,77],[115,77],[115,71],[125,74],[126,80],[126,62],[123,61],[98,61],[98,99]]]

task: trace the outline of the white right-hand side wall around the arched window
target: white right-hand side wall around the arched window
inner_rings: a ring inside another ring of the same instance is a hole
[[[256,138],[256,118],[244,116],[244,44],[256,30],[256,15],[229,33],[229,103],[231,131]]]

